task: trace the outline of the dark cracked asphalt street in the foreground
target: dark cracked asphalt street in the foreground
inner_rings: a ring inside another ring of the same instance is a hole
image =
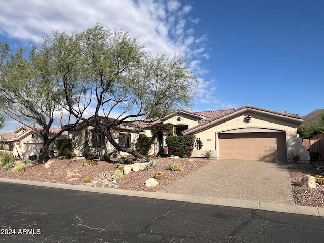
[[[321,242],[324,217],[0,183],[0,242]]]

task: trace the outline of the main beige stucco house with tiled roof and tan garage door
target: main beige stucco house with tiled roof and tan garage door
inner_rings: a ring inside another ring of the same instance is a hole
[[[114,135],[119,145],[134,147],[139,134],[152,137],[153,125],[171,123],[176,128],[176,136],[196,136],[192,157],[202,157],[207,150],[211,150],[212,157],[218,159],[289,161],[291,153],[298,153],[301,160],[308,163],[309,152],[297,134],[302,122],[303,118],[298,114],[250,105],[201,112],[178,109],[164,117],[122,124],[114,128]],[[104,119],[101,124],[104,128]],[[74,141],[73,152],[77,155],[82,154],[84,138],[91,138],[92,146],[100,143],[106,152],[114,150],[101,134],[86,123],[80,123],[75,130],[69,131],[69,138]],[[165,137],[159,134],[149,155],[158,155],[164,146]]]

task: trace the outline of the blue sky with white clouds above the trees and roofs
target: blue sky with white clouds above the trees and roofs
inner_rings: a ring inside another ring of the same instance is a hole
[[[0,4],[0,41],[13,46],[41,43],[44,33],[83,31],[100,22],[129,30],[153,53],[181,53],[200,81],[192,111],[250,104],[307,115],[324,108],[324,1]],[[8,119],[0,133],[17,126]]]

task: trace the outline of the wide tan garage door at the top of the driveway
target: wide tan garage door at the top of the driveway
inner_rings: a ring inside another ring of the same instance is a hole
[[[218,134],[219,158],[287,161],[284,132]]]

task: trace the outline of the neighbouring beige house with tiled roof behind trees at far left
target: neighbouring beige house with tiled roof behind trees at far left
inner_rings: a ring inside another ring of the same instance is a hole
[[[53,137],[61,129],[51,128],[50,137]],[[37,156],[41,148],[43,147],[43,138],[39,132],[42,131],[42,127],[28,127],[22,125],[15,129],[12,133],[6,133],[4,135],[7,144],[12,144],[12,149],[9,149],[8,145],[6,150],[11,150],[16,158],[29,158],[30,156]],[[67,132],[64,132],[60,138],[67,137]],[[56,151],[55,144],[52,143],[50,150]]]

